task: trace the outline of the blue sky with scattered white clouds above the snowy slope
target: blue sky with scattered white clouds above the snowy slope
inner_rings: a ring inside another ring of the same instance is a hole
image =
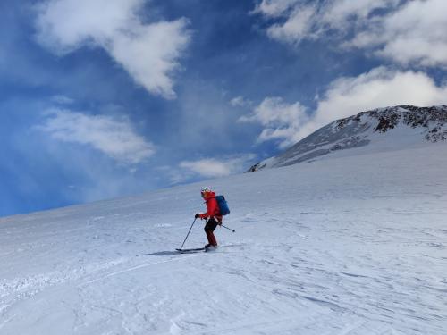
[[[446,105],[444,13],[443,0],[4,0],[0,216],[239,173],[363,110]]]

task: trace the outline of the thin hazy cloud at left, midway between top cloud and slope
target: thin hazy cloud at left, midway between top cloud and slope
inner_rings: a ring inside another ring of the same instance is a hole
[[[66,109],[51,109],[46,115],[46,123],[39,130],[63,142],[94,147],[119,163],[141,163],[155,153],[154,145],[137,135],[128,119]]]

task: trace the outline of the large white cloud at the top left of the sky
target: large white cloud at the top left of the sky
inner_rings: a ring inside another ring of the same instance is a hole
[[[173,73],[190,41],[185,19],[144,24],[145,0],[47,0],[38,5],[38,41],[55,54],[99,46],[149,92],[174,98]]]

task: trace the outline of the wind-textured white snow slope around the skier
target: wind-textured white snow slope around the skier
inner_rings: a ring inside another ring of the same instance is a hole
[[[210,181],[236,230],[214,253],[173,252],[204,208],[197,184],[4,218],[0,334],[445,334],[445,153]]]

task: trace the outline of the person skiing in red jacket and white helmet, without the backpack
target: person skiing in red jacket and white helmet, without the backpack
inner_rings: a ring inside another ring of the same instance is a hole
[[[201,195],[207,204],[207,212],[203,214],[196,214],[196,219],[205,219],[207,224],[205,225],[205,232],[207,233],[208,243],[205,249],[215,249],[217,247],[217,240],[215,239],[215,227],[222,225],[222,215],[220,214],[219,205],[215,200],[215,192],[211,188],[202,188]]]

